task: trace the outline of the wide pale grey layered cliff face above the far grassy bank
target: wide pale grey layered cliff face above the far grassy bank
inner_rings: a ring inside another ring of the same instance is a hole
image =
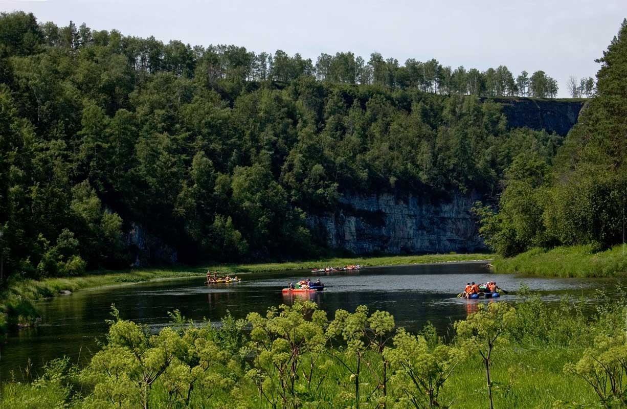
[[[475,252],[485,250],[470,212],[477,199],[345,194],[339,210],[307,221],[327,246],[355,254]]]

